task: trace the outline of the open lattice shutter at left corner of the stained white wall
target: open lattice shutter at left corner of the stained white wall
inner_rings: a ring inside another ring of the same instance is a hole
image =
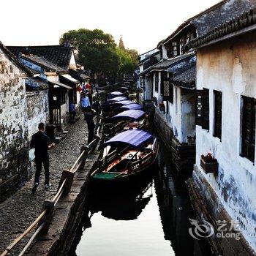
[[[197,90],[196,95],[197,112],[195,114],[195,124],[209,130],[209,90]]]

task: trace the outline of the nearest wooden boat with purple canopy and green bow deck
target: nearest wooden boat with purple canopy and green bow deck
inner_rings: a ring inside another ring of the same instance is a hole
[[[120,184],[138,178],[154,164],[159,142],[142,129],[131,129],[106,141],[101,148],[104,154],[91,178],[100,183]]]

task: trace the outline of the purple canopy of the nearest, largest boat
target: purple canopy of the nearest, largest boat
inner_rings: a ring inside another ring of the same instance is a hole
[[[129,129],[118,133],[110,140],[102,144],[101,148],[106,146],[131,146],[132,148],[141,148],[148,143],[153,136],[142,129]]]

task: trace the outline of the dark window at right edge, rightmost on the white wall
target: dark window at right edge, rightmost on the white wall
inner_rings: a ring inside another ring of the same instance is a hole
[[[255,99],[243,97],[241,156],[255,162]]]

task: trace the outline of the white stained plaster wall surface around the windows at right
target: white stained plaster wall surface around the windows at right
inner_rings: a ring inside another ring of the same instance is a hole
[[[209,132],[196,127],[196,167],[225,206],[241,223],[241,231],[256,250],[256,167],[241,151],[241,95],[256,98],[256,34],[246,34],[197,52],[197,89],[210,91]],[[222,91],[222,140],[213,137],[213,89]],[[219,173],[205,174],[200,155],[211,152]],[[196,182],[196,181],[195,181]]]

